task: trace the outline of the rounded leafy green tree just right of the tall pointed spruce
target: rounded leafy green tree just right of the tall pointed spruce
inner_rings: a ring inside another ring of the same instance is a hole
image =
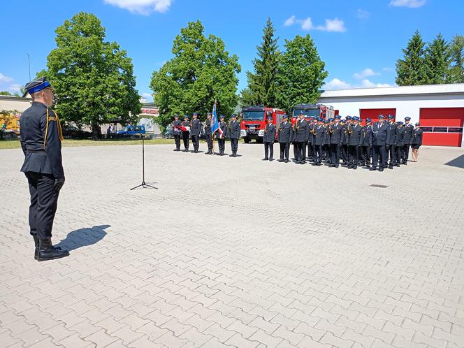
[[[297,103],[315,103],[328,72],[309,34],[286,40],[284,46],[277,75],[277,103],[289,111]]]

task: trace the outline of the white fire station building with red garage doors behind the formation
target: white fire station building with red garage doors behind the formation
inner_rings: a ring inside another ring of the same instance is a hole
[[[464,83],[325,91],[318,101],[335,114],[358,115],[372,122],[378,115],[420,122],[423,145],[464,147]]]

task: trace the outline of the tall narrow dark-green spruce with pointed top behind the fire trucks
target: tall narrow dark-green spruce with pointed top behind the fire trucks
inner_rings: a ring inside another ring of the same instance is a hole
[[[263,28],[263,41],[257,47],[258,58],[253,60],[254,73],[247,71],[248,87],[241,92],[245,105],[275,106],[280,50],[274,31],[273,22],[268,18]]]

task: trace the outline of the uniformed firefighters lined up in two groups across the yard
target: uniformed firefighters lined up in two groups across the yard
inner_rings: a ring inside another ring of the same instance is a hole
[[[293,144],[293,161],[296,164],[309,162],[314,166],[327,164],[338,168],[340,161],[347,168],[356,169],[358,166],[370,168],[370,171],[384,171],[385,168],[393,169],[401,164],[407,164],[409,148],[417,151],[422,145],[422,129],[420,124],[410,124],[410,117],[405,117],[405,122],[395,122],[395,117],[379,115],[378,121],[373,122],[369,118],[363,119],[357,116],[347,116],[342,119],[340,115],[333,118],[307,116],[300,113],[294,122],[289,121],[288,115],[282,116],[282,122],[277,126],[273,123],[273,117],[266,119],[263,129],[264,158],[263,161],[274,160],[274,143],[280,145],[280,159],[278,161],[288,163],[290,145]],[[213,154],[212,136],[219,145],[219,156],[224,155],[225,139],[231,140],[230,157],[237,157],[238,139],[240,138],[240,122],[235,115],[231,116],[231,122],[224,122],[224,116],[220,116],[219,128],[212,134],[212,115],[208,113],[202,128],[198,114],[193,114],[193,119],[184,116],[181,122],[178,116],[173,121],[173,134],[175,150],[180,150],[180,138],[184,142],[184,152],[189,151],[189,139],[194,146],[192,152],[198,153],[200,134],[204,133],[208,143],[208,152]],[[416,157],[413,158],[416,161]]]

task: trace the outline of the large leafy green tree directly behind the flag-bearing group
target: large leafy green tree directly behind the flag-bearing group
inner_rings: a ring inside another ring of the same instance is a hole
[[[150,88],[161,129],[175,113],[198,112],[204,117],[215,99],[218,115],[230,115],[237,105],[238,57],[229,55],[221,38],[203,33],[199,20],[189,22],[174,39],[174,57],[152,74]]]

